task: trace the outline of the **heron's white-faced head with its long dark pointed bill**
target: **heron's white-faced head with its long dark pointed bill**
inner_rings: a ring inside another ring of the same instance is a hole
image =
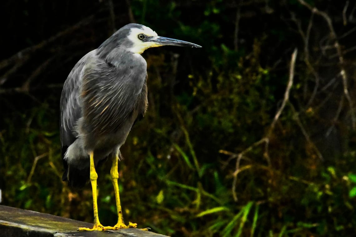
[[[148,48],[164,45],[201,48],[201,46],[198,44],[181,41],[179,39],[171,39],[158,36],[155,31],[147,26],[139,24],[129,24],[127,26],[129,26],[130,31],[126,38],[132,42],[128,50],[133,53],[141,54]]]

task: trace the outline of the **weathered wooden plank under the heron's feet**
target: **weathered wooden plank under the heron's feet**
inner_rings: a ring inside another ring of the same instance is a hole
[[[93,224],[60,216],[0,205],[0,236],[6,237],[167,237],[140,229],[81,231]]]

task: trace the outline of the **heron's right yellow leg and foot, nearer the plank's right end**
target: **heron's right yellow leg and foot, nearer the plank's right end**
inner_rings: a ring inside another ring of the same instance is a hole
[[[119,178],[119,172],[117,172],[117,161],[119,160],[118,155],[113,159],[112,166],[110,170],[112,185],[114,185],[115,200],[116,200],[116,210],[117,210],[117,223],[115,226],[105,226],[106,230],[118,230],[122,228],[136,228],[136,223],[129,222],[129,225],[125,225],[124,218],[122,217],[122,209],[120,203],[119,185],[117,185],[117,179]],[[142,229],[148,230],[148,228]]]

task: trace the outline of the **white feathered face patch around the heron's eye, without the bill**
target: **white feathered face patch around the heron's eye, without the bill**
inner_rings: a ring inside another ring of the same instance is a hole
[[[127,38],[133,43],[132,47],[129,49],[132,53],[142,54],[148,48],[157,47],[155,42],[142,42],[137,38],[138,34],[145,34],[146,36],[157,36],[157,33],[147,26],[143,26],[143,29],[132,28],[130,30],[129,36]]]

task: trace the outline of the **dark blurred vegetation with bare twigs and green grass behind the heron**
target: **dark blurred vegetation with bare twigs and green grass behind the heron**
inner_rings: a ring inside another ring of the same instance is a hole
[[[149,108],[119,164],[126,222],[170,236],[355,235],[355,1],[18,0],[1,9],[2,205],[93,221],[90,185],[61,181],[59,98],[84,54],[136,22],[203,48],[143,54]],[[109,170],[98,172],[104,225],[116,223]]]

